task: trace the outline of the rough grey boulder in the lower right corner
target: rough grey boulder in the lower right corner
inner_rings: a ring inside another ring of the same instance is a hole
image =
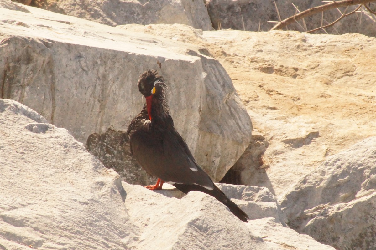
[[[374,249],[376,137],[329,157],[282,199],[289,225],[339,250]]]

